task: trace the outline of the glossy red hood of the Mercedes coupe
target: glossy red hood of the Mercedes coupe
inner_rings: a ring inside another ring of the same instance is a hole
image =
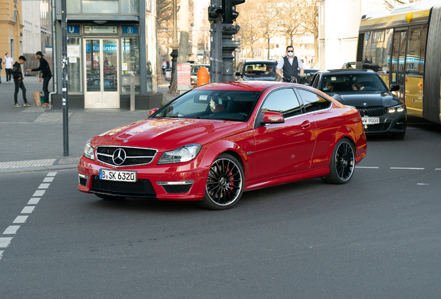
[[[246,129],[247,123],[226,120],[147,118],[92,138],[92,146],[148,147],[167,152],[190,143],[204,145]]]

